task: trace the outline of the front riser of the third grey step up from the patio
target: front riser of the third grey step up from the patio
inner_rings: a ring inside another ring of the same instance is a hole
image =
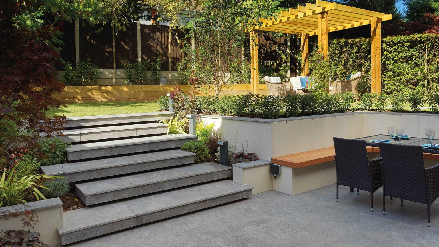
[[[184,156],[166,160],[155,160],[149,162],[135,163],[124,166],[101,168],[90,171],[82,171],[65,174],[69,182],[79,182],[95,178],[105,178],[121,174],[129,174],[140,171],[148,171],[159,168],[173,167],[194,163],[194,156]],[[68,165],[68,164],[67,164]],[[62,174],[62,173],[61,173]]]

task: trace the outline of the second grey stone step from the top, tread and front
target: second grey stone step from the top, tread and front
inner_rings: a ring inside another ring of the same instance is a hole
[[[68,129],[62,131],[63,135],[54,135],[64,142],[88,142],[112,138],[136,137],[149,134],[166,134],[167,124],[128,124],[105,127],[89,127],[81,129]]]

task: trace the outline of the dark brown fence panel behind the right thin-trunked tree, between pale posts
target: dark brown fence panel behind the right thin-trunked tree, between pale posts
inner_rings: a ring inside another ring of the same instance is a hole
[[[171,31],[171,70],[177,70],[177,64],[183,61],[183,40],[187,33],[180,30]],[[141,52],[142,61],[155,62],[157,58],[162,60],[162,70],[169,70],[169,26],[141,25]],[[191,39],[187,39],[191,44]]]

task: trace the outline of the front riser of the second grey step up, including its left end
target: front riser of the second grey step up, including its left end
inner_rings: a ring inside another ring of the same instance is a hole
[[[157,182],[148,185],[140,185],[132,188],[121,189],[121,190],[100,193],[90,196],[85,196],[78,188],[76,188],[76,193],[78,194],[79,198],[81,198],[81,200],[87,206],[89,206],[97,203],[120,200],[133,196],[140,196],[140,195],[155,193],[168,189],[176,189],[176,188],[180,188],[188,185],[194,185],[202,182],[209,182],[223,178],[230,178],[230,175],[231,175],[230,170],[224,170],[224,171],[216,171],[206,174],[198,174],[198,175],[195,174],[194,176],[191,177],[177,178],[173,180]]]

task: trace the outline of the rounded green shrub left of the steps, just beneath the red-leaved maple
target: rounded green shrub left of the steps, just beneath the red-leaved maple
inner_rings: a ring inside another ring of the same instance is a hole
[[[43,157],[40,158],[41,166],[49,166],[54,164],[66,163],[67,151],[70,142],[63,142],[59,138],[40,138],[38,139],[40,153]]]

